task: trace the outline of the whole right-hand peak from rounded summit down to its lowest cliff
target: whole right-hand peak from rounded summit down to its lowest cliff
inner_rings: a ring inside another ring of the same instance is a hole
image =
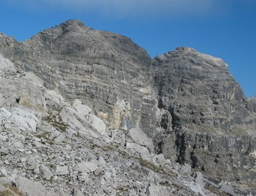
[[[160,125],[156,151],[204,171],[215,182],[255,179],[255,113],[221,59],[192,48],[153,63]],[[253,134],[253,135],[252,135]],[[240,182],[240,183],[241,183]]]

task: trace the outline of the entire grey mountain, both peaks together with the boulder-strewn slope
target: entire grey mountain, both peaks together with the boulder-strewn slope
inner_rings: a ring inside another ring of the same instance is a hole
[[[222,59],[78,20],[0,54],[0,193],[256,194],[255,98]]]

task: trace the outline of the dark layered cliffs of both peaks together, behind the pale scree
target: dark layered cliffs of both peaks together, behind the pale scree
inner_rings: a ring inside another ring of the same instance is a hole
[[[127,37],[69,20],[0,53],[45,86],[94,108],[109,129],[142,129],[155,151],[215,182],[255,179],[255,98],[227,64],[192,48],[151,59]]]

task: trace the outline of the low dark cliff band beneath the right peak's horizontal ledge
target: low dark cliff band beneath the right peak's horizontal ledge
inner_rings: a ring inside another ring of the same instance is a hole
[[[200,169],[215,183],[255,180],[255,137],[173,131],[155,138],[156,150],[181,164]]]

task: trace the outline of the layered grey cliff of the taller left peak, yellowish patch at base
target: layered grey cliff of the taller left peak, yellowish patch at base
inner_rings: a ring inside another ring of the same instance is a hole
[[[25,42],[9,42],[13,49],[5,56],[18,67],[67,99],[93,106],[111,128],[155,134],[156,93],[147,83],[151,57],[127,37],[69,20]]]

